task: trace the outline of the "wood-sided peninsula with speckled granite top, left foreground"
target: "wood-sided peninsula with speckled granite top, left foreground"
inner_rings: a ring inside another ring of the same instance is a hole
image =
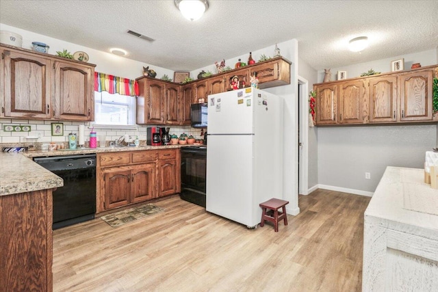
[[[52,291],[52,191],[62,185],[21,153],[0,152],[2,291]]]

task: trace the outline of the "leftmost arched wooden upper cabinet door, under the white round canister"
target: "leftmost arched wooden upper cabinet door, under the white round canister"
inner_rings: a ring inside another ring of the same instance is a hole
[[[3,50],[6,117],[50,119],[51,60],[14,50]]]

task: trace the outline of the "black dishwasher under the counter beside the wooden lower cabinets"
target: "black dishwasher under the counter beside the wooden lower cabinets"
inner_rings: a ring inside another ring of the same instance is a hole
[[[53,191],[53,230],[94,219],[95,154],[40,157],[34,161],[64,180],[64,187]]]

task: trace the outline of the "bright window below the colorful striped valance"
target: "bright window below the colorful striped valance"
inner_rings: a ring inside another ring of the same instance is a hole
[[[94,92],[94,122],[103,125],[136,124],[136,97]]]

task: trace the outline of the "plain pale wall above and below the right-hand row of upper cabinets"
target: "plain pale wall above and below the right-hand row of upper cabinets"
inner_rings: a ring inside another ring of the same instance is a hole
[[[389,72],[391,61],[404,58],[405,70],[412,63],[422,66],[437,64],[435,49],[387,59],[365,62],[337,70],[347,77],[358,77],[372,68]],[[324,70],[318,70],[322,81]],[[333,78],[332,78],[333,80]],[[426,150],[437,146],[437,124],[394,126],[318,127],[318,184],[353,194],[372,195],[387,166],[423,168]],[[371,179],[365,179],[365,172]]]

